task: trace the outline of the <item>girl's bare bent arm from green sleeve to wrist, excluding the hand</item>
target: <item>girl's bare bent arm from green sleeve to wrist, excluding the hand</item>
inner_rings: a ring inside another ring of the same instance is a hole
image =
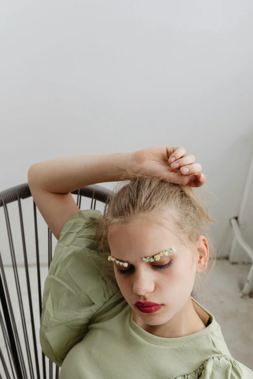
[[[86,185],[114,182],[133,164],[132,153],[75,155],[33,164],[28,185],[47,226],[59,239],[65,222],[79,208],[71,195]]]

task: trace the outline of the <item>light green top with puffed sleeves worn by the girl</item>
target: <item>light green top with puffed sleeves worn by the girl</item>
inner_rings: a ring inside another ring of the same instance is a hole
[[[95,250],[101,217],[83,210],[64,224],[45,282],[40,342],[60,379],[253,379],[193,298],[210,320],[200,332],[163,338],[134,322],[111,262]]]

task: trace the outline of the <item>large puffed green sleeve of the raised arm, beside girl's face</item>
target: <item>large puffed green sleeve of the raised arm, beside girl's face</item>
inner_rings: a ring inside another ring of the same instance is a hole
[[[72,216],[62,228],[49,267],[40,343],[44,354],[59,366],[83,339],[95,313],[119,289],[106,267],[107,259],[95,250],[95,226],[101,217],[95,210]]]

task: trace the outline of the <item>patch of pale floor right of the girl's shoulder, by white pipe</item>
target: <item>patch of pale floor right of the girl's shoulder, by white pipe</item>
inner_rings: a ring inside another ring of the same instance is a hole
[[[253,370],[253,298],[240,297],[250,267],[218,260],[202,294],[232,356]]]

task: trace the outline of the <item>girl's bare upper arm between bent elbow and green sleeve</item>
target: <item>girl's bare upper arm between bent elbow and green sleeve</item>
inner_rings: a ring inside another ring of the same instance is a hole
[[[28,185],[33,197],[33,200],[42,214],[42,217],[47,223],[47,226],[59,240],[61,230],[63,225],[67,220],[70,219],[74,214],[79,212],[79,207],[76,204],[71,193],[68,194],[54,194],[47,192],[36,186],[29,179],[28,175]]]

